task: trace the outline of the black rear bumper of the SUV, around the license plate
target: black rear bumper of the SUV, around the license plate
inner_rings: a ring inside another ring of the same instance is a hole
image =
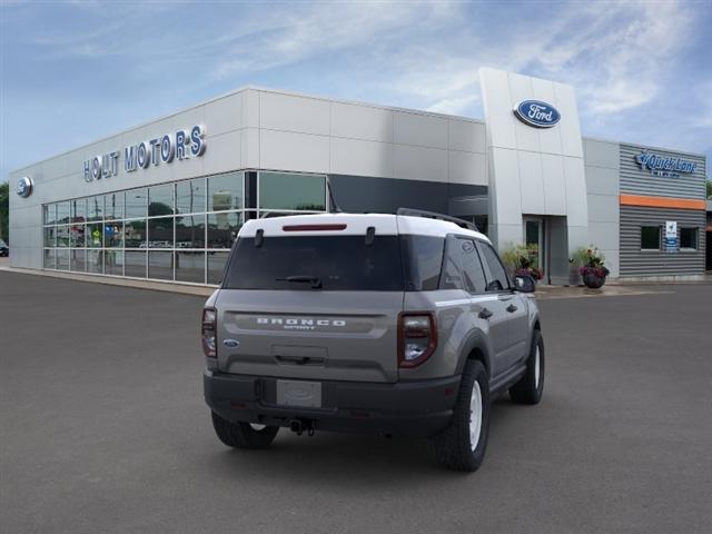
[[[322,382],[322,408],[277,405],[277,378],[206,369],[202,382],[208,406],[231,422],[289,426],[301,419],[323,431],[429,437],[449,423],[459,380]]]

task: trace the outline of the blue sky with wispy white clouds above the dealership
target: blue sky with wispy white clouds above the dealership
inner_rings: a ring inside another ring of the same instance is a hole
[[[0,180],[247,85],[483,118],[484,66],[712,161],[712,0],[0,0]]]

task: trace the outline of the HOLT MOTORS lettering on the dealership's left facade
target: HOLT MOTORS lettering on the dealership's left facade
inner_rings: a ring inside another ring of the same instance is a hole
[[[170,164],[175,160],[197,158],[205,154],[205,127],[196,125],[190,131],[178,130],[175,134],[166,134],[137,145],[123,148],[123,170],[134,172],[138,169],[147,169],[149,166]],[[119,159],[121,152],[111,152],[95,156],[85,161],[85,181],[109,178],[119,172]]]

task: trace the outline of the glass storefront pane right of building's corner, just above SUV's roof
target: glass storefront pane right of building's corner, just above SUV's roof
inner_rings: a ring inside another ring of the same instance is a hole
[[[326,210],[326,177],[259,172],[259,209]]]

